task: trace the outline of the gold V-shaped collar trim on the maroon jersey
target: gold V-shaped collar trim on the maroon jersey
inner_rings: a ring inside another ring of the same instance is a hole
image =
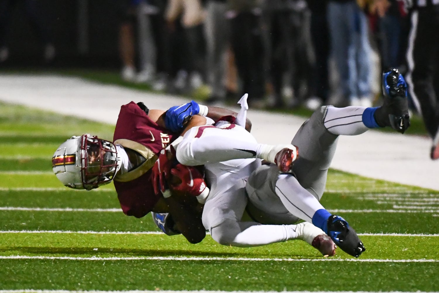
[[[128,182],[134,179],[139,178],[143,174],[149,171],[149,169],[152,168],[155,161],[157,161],[158,156],[154,154],[152,150],[150,150],[148,147],[145,147],[141,143],[137,143],[130,139],[117,139],[114,141],[114,144],[120,144],[122,147],[129,148],[131,150],[137,151],[139,154],[145,157],[146,161],[139,167],[126,172],[124,174],[117,173],[115,176],[115,181],[119,182]]]

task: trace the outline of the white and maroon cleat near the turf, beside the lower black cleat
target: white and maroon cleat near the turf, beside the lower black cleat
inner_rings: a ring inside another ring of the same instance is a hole
[[[335,249],[337,246],[335,246],[331,237],[325,234],[322,229],[308,222],[303,222],[296,226],[296,232],[298,233],[297,238],[302,239],[309,245],[313,246],[320,251],[324,257],[335,255]]]

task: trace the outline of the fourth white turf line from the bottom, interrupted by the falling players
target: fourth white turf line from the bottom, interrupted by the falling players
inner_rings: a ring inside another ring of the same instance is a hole
[[[63,188],[65,190],[65,188]],[[1,190],[1,188],[0,188]],[[7,190],[7,189],[6,189]],[[17,189],[13,189],[17,190]],[[54,188],[53,190],[58,190]],[[109,190],[111,191],[111,190]],[[408,208],[407,208],[408,209]],[[419,209],[419,208],[417,208]],[[122,212],[121,209],[81,209],[81,208],[25,208],[25,207],[11,207],[2,206],[0,211],[50,211],[50,212]],[[399,210],[399,209],[331,209],[333,213],[352,212],[352,213],[364,213],[364,212],[434,212],[439,213],[439,209],[422,209],[422,210]]]

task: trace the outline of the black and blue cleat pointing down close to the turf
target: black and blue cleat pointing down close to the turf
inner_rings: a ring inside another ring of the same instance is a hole
[[[327,221],[327,234],[340,249],[345,253],[358,257],[364,248],[363,242],[348,222],[341,216],[332,215]]]

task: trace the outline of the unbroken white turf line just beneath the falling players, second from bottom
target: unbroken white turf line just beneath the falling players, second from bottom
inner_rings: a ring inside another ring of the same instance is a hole
[[[240,261],[348,261],[363,263],[439,263],[439,260],[381,260],[381,259],[341,259],[341,258],[252,258],[252,257],[186,257],[186,256],[130,256],[130,257],[72,257],[72,256],[0,256],[0,260],[240,260]]]

